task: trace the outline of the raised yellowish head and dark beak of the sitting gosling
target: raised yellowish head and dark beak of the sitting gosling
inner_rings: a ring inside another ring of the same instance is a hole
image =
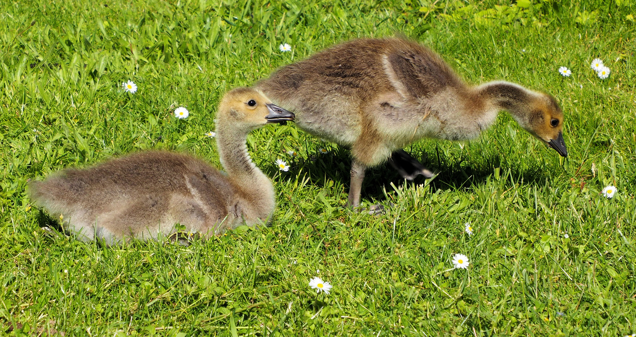
[[[221,100],[218,122],[229,128],[251,131],[267,123],[293,121],[296,116],[275,106],[263,93],[252,88],[236,88],[226,93]]]

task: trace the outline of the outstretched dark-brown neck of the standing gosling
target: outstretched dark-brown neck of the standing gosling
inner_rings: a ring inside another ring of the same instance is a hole
[[[523,86],[505,81],[494,81],[476,88],[480,97],[497,110],[506,110],[523,128],[529,127],[530,102],[536,93]]]

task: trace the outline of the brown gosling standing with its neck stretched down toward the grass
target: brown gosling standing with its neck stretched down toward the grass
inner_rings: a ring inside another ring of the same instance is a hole
[[[281,67],[256,88],[296,113],[298,127],[350,147],[352,207],[366,168],[424,137],[474,139],[501,110],[567,156],[553,97],[504,81],[469,86],[435,52],[404,39],[343,43]]]

